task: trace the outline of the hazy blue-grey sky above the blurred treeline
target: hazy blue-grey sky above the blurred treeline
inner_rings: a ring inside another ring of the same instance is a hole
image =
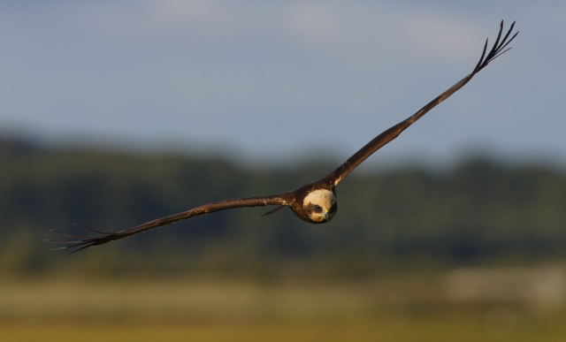
[[[255,160],[349,156],[513,49],[372,163],[566,163],[564,1],[0,3],[0,133]]]

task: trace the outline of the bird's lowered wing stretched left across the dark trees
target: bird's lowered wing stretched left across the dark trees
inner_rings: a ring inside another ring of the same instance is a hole
[[[146,224],[137,225],[133,228],[126,229],[120,232],[99,232],[99,231],[95,231],[94,229],[89,229],[80,226],[78,224],[75,224],[78,227],[87,230],[88,232],[94,232],[96,234],[99,234],[99,236],[77,236],[77,235],[67,234],[65,232],[57,232],[52,230],[51,232],[57,232],[57,234],[63,235],[68,238],[73,238],[73,240],[58,241],[58,240],[46,239],[45,241],[69,244],[69,246],[51,248],[51,249],[65,249],[65,248],[78,247],[78,249],[75,249],[72,252],[74,253],[87,247],[103,245],[107,242],[111,242],[117,239],[124,239],[132,235],[138,234],[140,232],[147,232],[154,228],[163,227],[164,225],[167,224],[174,224],[181,220],[187,220],[192,217],[197,217],[204,214],[210,214],[215,211],[244,208],[244,207],[265,207],[268,205],[278,205],[279,207],[287,206],[288,204],[287,197],[288,197],[287,194],[275,194],[272,196],[259,196],[259,197],[241,198],[236,200],[217,201],[209,204],[204,204],[200,207],[196,207],[195,209],[183,211],[179,214],[159,218],[157,220],[150,221]]]

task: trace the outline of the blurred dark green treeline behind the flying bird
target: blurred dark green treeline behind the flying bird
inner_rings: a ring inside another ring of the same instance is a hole
[[[566,256],[566,175],[479,159],[442,174],[354,172],[337,188],[329,224],[303,223],[289,209],[261,219],[270,207],[234,209],[69,256],[43,242],[61,238],[50,229],[92,234],[73,223],[116,232],[210,201],[288,191],[337,166],[255,170],[213,157],[0,141],[0,274],[356,277]]]

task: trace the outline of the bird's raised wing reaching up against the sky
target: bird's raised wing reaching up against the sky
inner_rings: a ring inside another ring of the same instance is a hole
[[[405,129],[407,129],[409,125],[412,125],[419,118],[423,117],[424,114],[426,114],[429,110],[432,110],[432,108],[434,108],[437,104],[446,100],[448,97],[450,97],[450,95],[458,91],[458,89],[465,86],[466,83],[468,83],[476,73],[478,73],[480,70],[485,68],[491,61],[493,61],[493,59],[500,57],[507,50],[511,49],[511,48],[509,49],[505,49],[505,48],[507,47],[509,42],[515,39],[516,34],[518,34],[518,32],[514,34],[511,37],[511,39],[509,39],[508,41],[509,34],[511,34],[511,31],[513,31],[514,26],[515,26],[515,22],[513,22],[513,24],[509,28],[509,32],[505,34],[505,37],[503,37],[503,39],[501,40],[501,33],[503,32],[503,20],[501,20],[501,28],[499,31],[499,35],[497,36],[497,40],[493,44],[493,48],[489,51],[489,53],[486,56],[486,50],[487,50],[487,41],[486,41],[486,45],[484,46],[484,52],[479,58],[478,65],[476,65],[474,70],[468,76],[464,77],[454,86],[450,87],[447,91],[445,91],[437,98],[432,100],[430,103],[425,105],[421,110],[418,110],[417,113],[415,113],[410,118],[407,118],[401,123],[394,125],[393,127],[386,130],[384,133],[379,134],[372,141],[368,142],[367,145],[365,145],[363,148],[357,151],[354,156],[350,156],[348,160],[345,163],[341,164],[338,169],[328,174],[328,176],[326,176],[323,180],[329,183],[331,186],[336,186],[340,182],[340,180],[344,179],[348,175],[348,173],[356,169],[356,167],[360,163],[362,163],[365,159],[371,156],[375,151],[377,151],[379,148],[382,148],[389,141],[393,141],[395,138],[397,138],[397,136],[400,133],[402,133]]]

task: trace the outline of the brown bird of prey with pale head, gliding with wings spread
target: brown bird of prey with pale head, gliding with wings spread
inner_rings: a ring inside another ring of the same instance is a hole
[[[68,238],[73,238],[72,241],[56,241],[56,240],[46,240],[48,242],[64,243],[70,244],[70,246],[52,248],[52,249],[63,249],[70,247],[77,247],[72,253],[78,252],[81,249],[103,245],[107,242],[111,242],[117,239],[124,239],[140,232],[147,232],[154,228],[163,227],[167,224],[174,224],[181,220],[187,220],[192,217],[197,217],[200,215],[210,214],[220,210],[235,209],[243,207],[264,207],[264,206],[277,206],[275,209],[268,211],[264,216],[271,215],[279,209],[289,207],[293,210],[294,214],[305,222],[310,224],[324,224],[333,219],[336,215],[338,209],[338,203],[336,201],[336,186],[340,183],[340,180],[348,176],[348,173],[356,169],[356,167],[362,163],[365,159],[371,156],[379,148],[382,148],[389,141],[393,141],[400,133],[402,133],[409,125],[412,125],[419,118],[422,118],[429,110],[432,110],[437,104],[446,100],[450,95],[453,95],[461,87],[465,86],[476,73],[484,69],[493,59],[501,56],[509,49],[505,49],[509,42],[515,39],[516,34],[514,34],[511,39],[509,39],[509,34],[513,31],[515,22],[509,28],[509,31],[503,39],[501,39],[501,34],[503,32],[503,21],[501,20],[501,28],[493,48],[487,52],[487,42],[484,46],[481,57],[479,58],[478,65],[473,69],[473,71],[464,77],[462,80],[457,82],[454,86],[450,87],[447,91],[436,97],[430,103],[426,104],[421,110],[418,110],[413,116],[407,118],[401,123],[394,125],[393,127],[387,129],[385,132],[379,134],[372,141],[368,142],[363,148],[350,156],[345,163],[342,163],[338,169],[330,172],[325,178],[317,180],[316,182],[305,184],[298,189],[289,191],[282,194],[272,194],[269,196],[258,196],[249,198],[239,198],[235,200],[226,201],[216,201],[209,204],[204,204],[195,209],[190,209],[179,214],[171,215],[168,217],[158,218],[157,220],[148,222],[146,224],[137,225],[133,228],[126,229],[120,232],[99,232],[93,229],[88,229],[82,226],[89,232],[94,232],[99,234],[97,236],[76,236],[67,234],[64,232],[57,232]],[[487,54],[486,54],[487,52]]]

